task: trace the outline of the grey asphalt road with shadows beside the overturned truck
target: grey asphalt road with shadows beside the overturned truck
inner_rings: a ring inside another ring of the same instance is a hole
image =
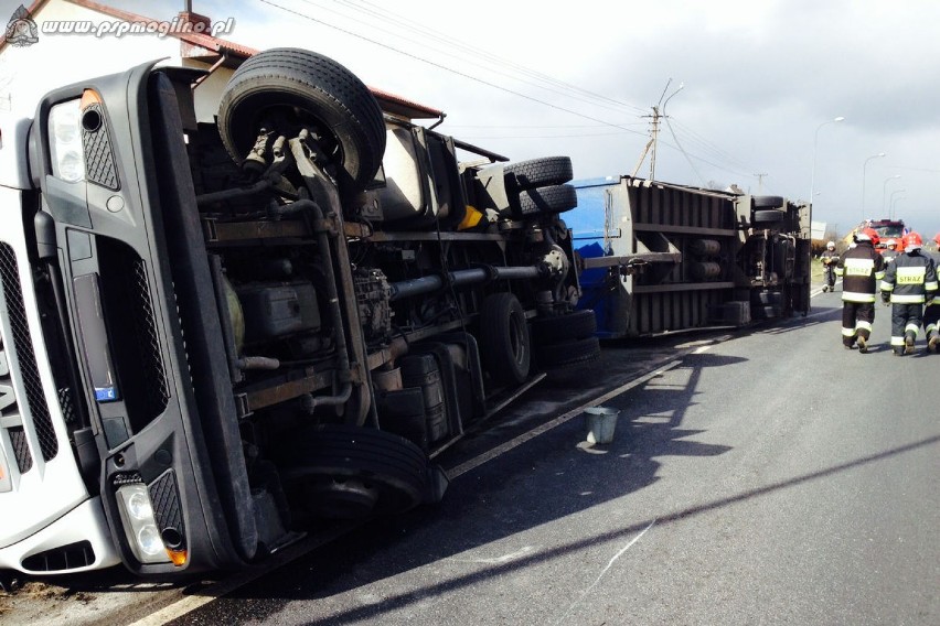
[[[844,350],[838,296],[730,336],[608,345],[439,457],[440,505],[237,589],[55,606],[141,625],[938,624],[940,356],[891,356],[880,306],[872,353]],[[590,446],[598,397],[620,414]]]

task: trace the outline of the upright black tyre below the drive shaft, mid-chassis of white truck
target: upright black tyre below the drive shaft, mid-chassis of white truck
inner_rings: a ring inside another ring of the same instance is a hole
[[[520,385],[528,378],[532,343],[525,311],[512,293],[493,293],[480,311],[480,356],[496,385]]]

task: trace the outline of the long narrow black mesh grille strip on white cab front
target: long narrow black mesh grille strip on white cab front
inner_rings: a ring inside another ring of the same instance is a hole
[[[12,348],[17,352],[17,360],[20,364],[20,377],[26,391],[29,414],[32,417],[33,428],[36,438],[39,438],[42,457],[50,461],[58,454],[58,440],[55,438],[52,415],[42,392],[42,381],[36,367],[36,357],[33,353],[30,327],[26,324],[26,309],[23,305],[17,256],[12,247],[2,242],[0,242],[0,284],[3,285],[3,299],[7,303],[7,314],[10,316],[10,332],[13,335]],[[21,465],[22,470],[23,463],[19,457],[20,453],[17,454],[17,463]],[[31,460],[29,466],[32,466]]]

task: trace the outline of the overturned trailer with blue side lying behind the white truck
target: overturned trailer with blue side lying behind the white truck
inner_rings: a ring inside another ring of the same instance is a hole
[[[633,176],[577,181],[567,216],[603,338],[805,315],[810,207]],[[595,229],[596,225],[603,227]]]

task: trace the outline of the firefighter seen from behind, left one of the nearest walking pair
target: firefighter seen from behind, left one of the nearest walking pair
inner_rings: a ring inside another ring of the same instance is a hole
[[[868,352],[875,322],[875,292],[885,276],[885,259],[875,249],[878,234],[864,228],[853,236],[854,247],[838,259],[836,276],[842,277],[842,345]]]

